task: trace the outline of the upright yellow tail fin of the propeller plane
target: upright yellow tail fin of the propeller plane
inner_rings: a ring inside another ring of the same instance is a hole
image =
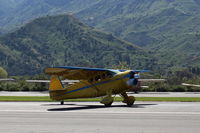
[[[64,86],[62,85],[57,75],[52,75],[49,84],[49,91],[58,91],[58,90],[64,90]]]

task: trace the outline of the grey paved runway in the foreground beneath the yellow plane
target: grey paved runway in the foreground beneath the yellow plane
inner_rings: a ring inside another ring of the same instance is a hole
[[[1,133],[197,133],[199,123],[199,102],[0,102]]]

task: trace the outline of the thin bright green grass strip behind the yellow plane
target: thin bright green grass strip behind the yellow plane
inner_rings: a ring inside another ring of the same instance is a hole
[[[68,102],[95,102],[101,98],[69,99]],[[48,96],[0,96],[0,101],[51,102]],[[115,97],[115,101],[122,101]],[[200,102],[200,97],[136,97],[136,101],[165,101],[165,102]]]

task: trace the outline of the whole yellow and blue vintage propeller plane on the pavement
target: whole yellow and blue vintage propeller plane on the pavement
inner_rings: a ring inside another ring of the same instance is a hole
[[[128,96],[126,92],[140,86],[139,73],[141,72],[148,71],[70,66],[45,69],[45,73],[51,76],[49,93],[52,100],[61,101],[61,104],[64,104],[64,99],[103,97],[100,102],[105,106],[111,106],[113,94],[120,94],[124,99],[123,102],[132,106],[135,98]],[[79,80],[79,82],[65,87],[60,77]]]

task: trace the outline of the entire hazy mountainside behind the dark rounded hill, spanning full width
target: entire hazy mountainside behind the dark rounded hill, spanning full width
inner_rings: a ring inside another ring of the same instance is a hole
[[[152,58],[151,62],[151,56],[140,66],[148,62],[150,69],[158,67],[161,71],[200,68],[199,0],[2,0],[0,35],[35,17],[66,12],[76,13],[82,22],[136,44],[158,58],[154,67],[157,61]]]

